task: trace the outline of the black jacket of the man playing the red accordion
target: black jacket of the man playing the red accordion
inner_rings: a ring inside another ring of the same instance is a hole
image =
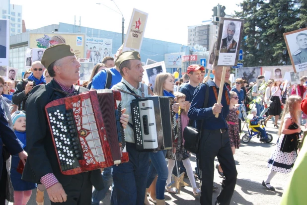
[[[29,93],[26,102],[26,135],[28,158],[22,179],[40,184],[40,179],[48,173],[53,173],[63,185],[70,184],[74,175],[63,175],[60,171],[52,136],[50,133],[45,106],[49,102],[64,98],[66,95],[53,88],[61,87],[55,80],[46,85],[37,85]],[[88,91],[80,87],[79,92]],[[90,172],[90,181],[97,189],[103,189],[100,169]]]

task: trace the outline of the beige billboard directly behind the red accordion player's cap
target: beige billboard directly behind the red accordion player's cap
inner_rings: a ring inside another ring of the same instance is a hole
[[[84,34],[30,33],[29,47],[46,49],[51,45],[66,43],[70,45],[77,58],[84,58]]]

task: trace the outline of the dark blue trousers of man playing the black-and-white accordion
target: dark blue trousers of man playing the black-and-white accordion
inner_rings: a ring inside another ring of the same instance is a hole
[[[112,205],[143,205],[149,169],[149,153],[137,151],[135,143],[126,142],[129,162],[113,165]]]

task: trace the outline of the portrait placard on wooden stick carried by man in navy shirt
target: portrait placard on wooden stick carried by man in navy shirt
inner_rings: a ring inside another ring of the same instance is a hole
[[[214,66],[236,66],[243,34],[243,19],[220,19],[217,55]]]

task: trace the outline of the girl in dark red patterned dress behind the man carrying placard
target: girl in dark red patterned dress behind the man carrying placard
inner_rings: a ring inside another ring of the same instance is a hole
[[[238,96],[236,92],[230,91],[230,105],[229,105],[229,114],[226,117],[226,121],[229,128],[229,139],[232,154],[235,153],[235,149],[238,149],[240,146],[240,137],[239,137],[239,110],[236,105],[238,104]],[[218,173],[223,177],[223,170],[219,164],[216,165]]]

